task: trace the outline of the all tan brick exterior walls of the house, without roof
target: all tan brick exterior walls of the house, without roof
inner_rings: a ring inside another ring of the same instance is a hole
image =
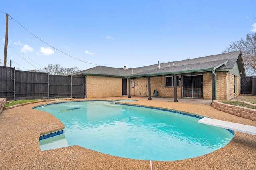
[[[181,75],[177,75],[181,77]],[[216,98],[228,100],[240,94],[240,77],[236,76],[236,93],[234,93],[235,76],[228,72],[216,72]],[[134,87],[132,83],[134,82]],[[174,87],[165,87],[165,76],[150,78],[151,96],[154,90],[158,91],[159,97],[174,98]],[[127,80],[127,83],[129,81]],[[134,96],[148,96],[148,77],[132,78],[130,82],[130,94]],[[182,82],[177,87],[177,98],[182,98]],[[127,92],[129,91],[127,86]],[[86,77],[87,98],[101,98],[122,96],[122,78],[105,76]],[[212,100],[212,73],[203,74],[203,98]]]

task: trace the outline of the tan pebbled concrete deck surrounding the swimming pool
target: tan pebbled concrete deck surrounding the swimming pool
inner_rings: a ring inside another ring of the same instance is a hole
[[[118,99],[137,99],[138,101],[126,103],[180,110],[223,121],[256,126],[256,121],[218,111],[209,104],[203,104],[204,100],[190,103],[189,100],[178,99],[178,102],[173,102],[170,98],[148,100],[147,97],[135,96],[82,100]],[[19,106],[4,110],[0,114],[0,169],[150,170],[150,160],[120,158],[77,145],[41,151],[39,136],[64,128],[64,125],[50,113],[32,109],[34,106],[46,103],[48,102]],[[255,169],[255,155],[256,136],[235,132],[230,143],[221,149],[185,160],[152,161],[152,169]]]

